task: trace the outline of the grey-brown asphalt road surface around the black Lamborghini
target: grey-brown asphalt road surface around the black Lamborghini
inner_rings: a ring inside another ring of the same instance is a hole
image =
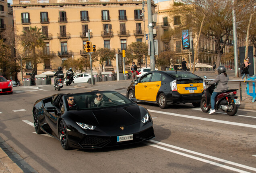
[[[38,173],[231,173],[256,172],[256,111],[208,115],[192,104],[160,109],[142,104],[153,117],[156,138],[123,147],[66,151],[60,141],[38,135],[33,103],[55,93],[90,88],[14,87],[0,96],[0,136]],[[126,89],[118,92],[125,94]]]

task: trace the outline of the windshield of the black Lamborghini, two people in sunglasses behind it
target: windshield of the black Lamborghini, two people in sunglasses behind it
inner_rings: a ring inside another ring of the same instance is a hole
[[[65,95],[69,110],[92,110],[123,107],[134,104],[124,95],[114,91],[92,91]]]

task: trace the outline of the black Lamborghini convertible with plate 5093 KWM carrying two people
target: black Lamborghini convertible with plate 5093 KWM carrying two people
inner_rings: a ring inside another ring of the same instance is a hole
[[[151,115],[134,102],[114,91],[52,95],[34,104],[35,131],[60,140],[64,149],[149,141],[155,137]]]

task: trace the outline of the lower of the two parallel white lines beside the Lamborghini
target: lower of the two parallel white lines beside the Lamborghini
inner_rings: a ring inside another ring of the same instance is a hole
[[[233,167],[230,167],[230,166],[226,166],[226,165],[223,165],[223,164],[220,164],[220,163],[216,163],[216,162],[213,162],[213,161],[209,161],[209,160],[206,160],[206,159],[202,159],[200,157],[196,157],[196,156],[193,156],[193,155],[189,155],[189,154],[186,154],[186,153],[182,153],[180,151],[175,151],[175,150],[172,150],[172,149],[168,149],[168,148],[165,148],[165,147],[161,147],[159,145],[155,145],[155,144],[152,144],[152,143],[146,143],[147,145],[151,146],[151,147],[155,147],[155,148],[158,148],[158,149],[162,149],[162,150],[165,150],[165,151],[169,151],[171,153],[175,153],[175,154],[178,154],[178,155],[182,155],[182,156],[185,156],[185,157],[188,157],[188,158],[191,158],[191,159],[195,159],[195,160],[198,160],[198,161],[202,161],[204,163],[209,163],[211,165],[215,165],[215,166],[218,166],[218,167],[222,167],[222,168],[225,168],[225,169],[229,169],[231,171],[236,171],[236,172],[239,172],[239,173],[250,173],[250,172],[247,172],[247,171],[243,171],[241,169],[237,169],[237,168],[233,168]],[[239,164],[240,165],[240,164]],[[245,167],[247,167],[246,165],[243,165]],[[255,168],[252,168],[252,169],[255,169]],[[256,170],[256,169],[255,169]]]

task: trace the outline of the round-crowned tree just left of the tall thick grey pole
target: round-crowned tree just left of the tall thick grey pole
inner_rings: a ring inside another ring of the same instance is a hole
[[[147,56],[148,53],[148,46],[144,42],[132,42],[127,46],[126,49],[126,58],[128,62],[134,61],[134,59],[137,60],[137,63],[139,64],[141,68],[141,62],[143,60],[143,56]]]

